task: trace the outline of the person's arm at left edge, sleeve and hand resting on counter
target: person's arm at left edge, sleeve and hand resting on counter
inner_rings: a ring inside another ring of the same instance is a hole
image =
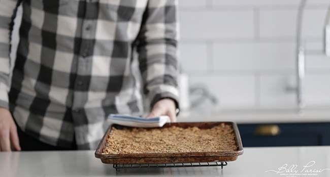
[[[20,150],[17,129],[9,112],[10,36],[20,1],[0,0],[0,151]]]

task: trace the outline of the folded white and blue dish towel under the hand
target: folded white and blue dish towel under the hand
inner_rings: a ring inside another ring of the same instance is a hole
[[[112,124],[143,128],[162,127],[166,122],[171,122],[169,116],[159,116],[147,119],[129,115],[110,114],[108,118]]]

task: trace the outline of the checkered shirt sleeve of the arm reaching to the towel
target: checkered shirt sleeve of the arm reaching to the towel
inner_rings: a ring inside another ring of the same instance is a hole
[[[143,91],[153,105],[163,98],[178,108],[177,1],[149,0],[138,35]]]

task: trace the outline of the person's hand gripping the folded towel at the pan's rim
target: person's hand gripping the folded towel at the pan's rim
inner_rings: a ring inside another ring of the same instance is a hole
[[[153,106],[147,118],[167,115],[170,117],[171,122],[176,122],[177,116],[175,110],[176,110],[175,102],[172,99],[168,99],[168,98],[161,99]]]

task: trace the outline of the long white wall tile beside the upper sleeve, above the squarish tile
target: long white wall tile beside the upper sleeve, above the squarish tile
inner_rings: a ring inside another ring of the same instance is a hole
[[[253,11],[181,11],[182,39],[252,38]]]

